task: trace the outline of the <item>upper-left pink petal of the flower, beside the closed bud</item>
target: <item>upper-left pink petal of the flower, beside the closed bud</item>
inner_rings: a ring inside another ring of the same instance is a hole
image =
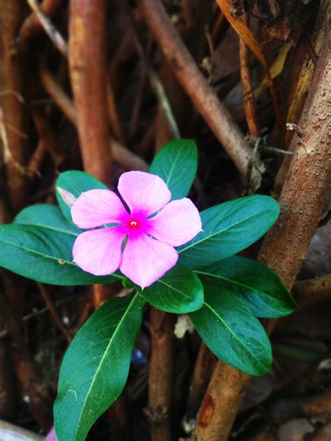
[[[78,227],[94,228],[108,223],[124,223],[128,212],[113,191],[95,189],[78,197],[71,208],[71,216]]]

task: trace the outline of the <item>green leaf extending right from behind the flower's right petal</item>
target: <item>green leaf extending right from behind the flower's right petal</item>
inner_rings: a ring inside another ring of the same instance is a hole
[[[178,248],[179,263],[197,268],[239,253],[256,242],[279,216],[269,196],[247,196],[200,213],[203,231]]]

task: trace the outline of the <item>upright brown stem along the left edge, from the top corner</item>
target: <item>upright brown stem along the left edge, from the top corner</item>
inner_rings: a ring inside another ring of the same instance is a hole
[[[3,82],[1,135],[8,200],[13,211],[21,209],[27,200],[26,112],[22,98],[24,83],[24,60],[17,43],[17,29],[23,20],[24,1],[1,1],[0,28],[3,47]]]

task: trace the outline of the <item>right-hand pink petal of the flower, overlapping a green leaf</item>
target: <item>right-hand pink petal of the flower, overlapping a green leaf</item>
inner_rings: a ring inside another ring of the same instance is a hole
[[[145,225],[145,232],[172,246],[186,244],[201,231],[199,211],[187,197],[169,202]]]

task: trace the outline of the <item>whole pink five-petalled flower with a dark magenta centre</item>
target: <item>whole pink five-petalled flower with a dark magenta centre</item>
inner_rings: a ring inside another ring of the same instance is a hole
[[[129,212],[110,190],[89,190],[75,200],[71,216],[78,227],[118,225],[79,234],[73,260],[96,276],[119,268],[131,281],[147,287],[176,264],[174,246],[185,244],[201,231],[200,215],[186,197],[169,202],[170,190],[154,174],[124,173],[118,190]]]

